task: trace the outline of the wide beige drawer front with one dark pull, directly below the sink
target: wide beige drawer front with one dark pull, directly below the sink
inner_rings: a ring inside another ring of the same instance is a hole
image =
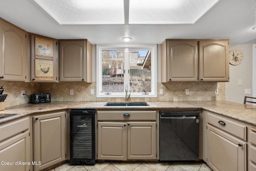
[[[97,111],[100,121],[156,121],[156,111]]]

